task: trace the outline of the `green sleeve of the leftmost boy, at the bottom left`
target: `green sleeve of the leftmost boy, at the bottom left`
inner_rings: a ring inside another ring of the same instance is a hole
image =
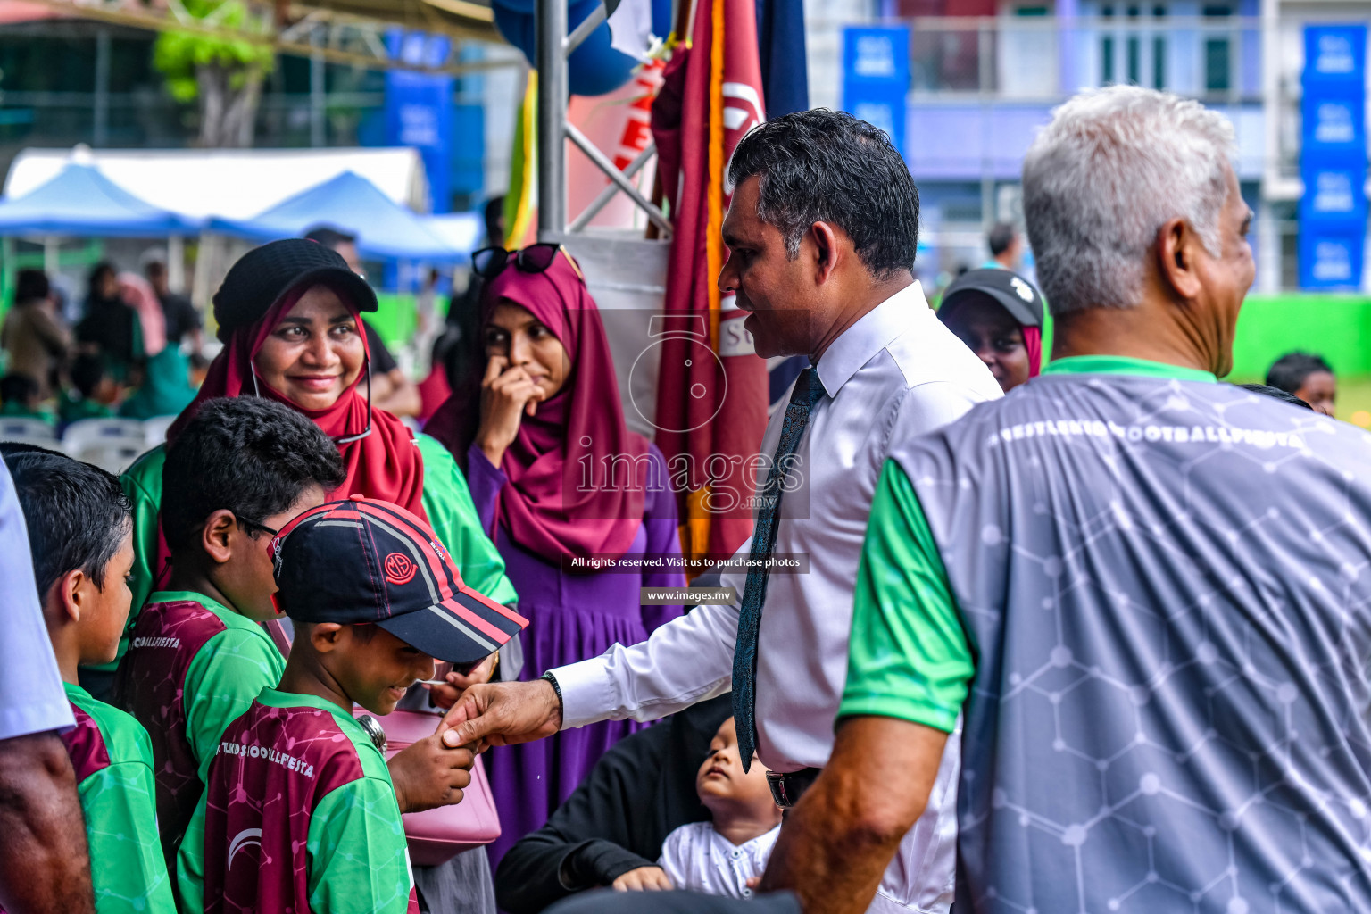
[[[158,837],[152,744],[138,736],[144,758],[103,767],[77,788],[97,914],[175,914]]]

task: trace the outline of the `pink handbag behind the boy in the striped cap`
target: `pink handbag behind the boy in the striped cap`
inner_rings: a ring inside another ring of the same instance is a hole
[[[271,640],[282,655],[291,652],[291,639],[285,628],[276,619],[263,622]],[[359,707],[352,714],[366,714]],[[385,758],[430,736],[437,729],[439,717],[424,711],[391,711],[374,718],[385,730]],[[440,806],[436,810],[407,813],[404,837],[410,844],[410,861],[418,866],[439,866],[481,844],[489,844],[500,836],[500,817],[495,811],[489,781],[481,758],[472,766],[472,782],[462,791],[462,802],[457,806]]]

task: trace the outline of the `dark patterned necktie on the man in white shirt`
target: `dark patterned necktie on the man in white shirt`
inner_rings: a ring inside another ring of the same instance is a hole
[[[738,726],[738,755],[743,771],[753,763],[757,751],[757,633],[762,625],[762,602],[766,599],[765,559],[776,544],[776,529],[780,526],[781,481],[791,455],[805,437],[809,412],[824,396],[824,385],[813,369],[805,369],[795,380],[795,389],[786,404],[786,421],[780,426],[780,443],[776,444],[776,458],[762,486],[761,510],[753,526],[754,560],[747,569],[747,584],[743,586],[743,607],[738,615],[738,645],[733,648],[733,724]]]

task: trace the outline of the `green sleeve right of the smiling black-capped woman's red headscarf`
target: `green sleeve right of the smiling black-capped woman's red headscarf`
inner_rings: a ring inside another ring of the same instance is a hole
[[[505,577],[505,559],[481,529],[462,469],[437,439],[415,437],[424,458],[424,511],[457,563],[462,581],[496,603],[515,603],[518,595]]]

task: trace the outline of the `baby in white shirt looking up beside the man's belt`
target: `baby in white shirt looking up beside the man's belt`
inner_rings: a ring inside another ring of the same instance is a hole
[[[709,744],[695,791],[714,821],[683,825],[668,835],[657,865],[673,888],[751,898],[749,881],[766,869],[781,814],[761,762],[754,758],[743,774],[733,718],[724,721]]]

